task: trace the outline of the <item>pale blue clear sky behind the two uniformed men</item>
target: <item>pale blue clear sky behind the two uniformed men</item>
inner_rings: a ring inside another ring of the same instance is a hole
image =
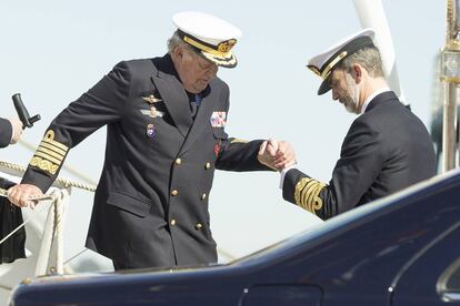
[[[446,40],[446,1],[383,0],[383,7],[401,88],[428,126],[434,58]],[[316,95],[320,80],[306,63],[361,29],[351,0],[1,1],[2,116],[16,114],[11,95],[20,92],[30,113],[42,116],[24,134],[38,145],[50,121],[117,62],[164,54],[174,30],[171,17],[188,10],[216,14],[243,32],[233,49],[239,65],[219,71],[231,89],[228,133],[287,140],[299,167],[328,182],[354,115],[330,94]],[[73,149],[67,164],[97,181],[103,151],[101,130]],[[31,155],[16,145],[2,150],[0,160],[26,165]],[[217,172],[210,207],[220,248],[242,256],[317,223],[281,198],[278,180],[276,173]],[[68,227],[76,230],[67,235],[79,246],[68,254],[83,244],[91,206],[91,194],[73,193]]]

